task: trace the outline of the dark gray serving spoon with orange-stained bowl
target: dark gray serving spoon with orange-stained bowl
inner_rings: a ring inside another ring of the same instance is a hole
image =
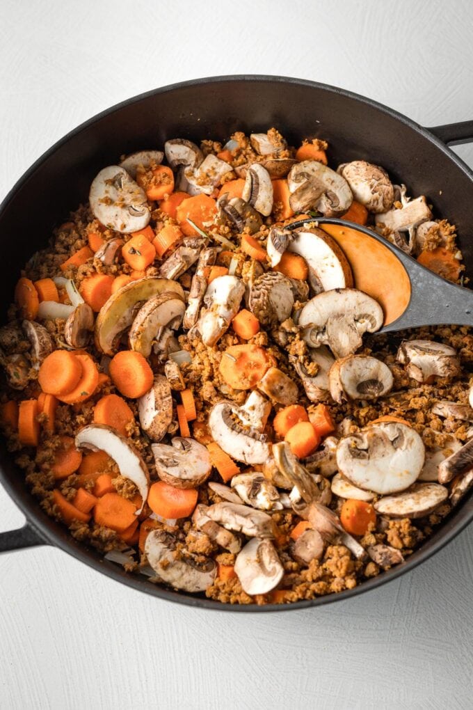
[[[473,325],[473,290],[429,271],[375,231],[355,222],[314,217],[292,222],[289,229],[309,223],[338,242],[352,266],[355,288],[382,305],[384,325],[378,333],[423,325]]]

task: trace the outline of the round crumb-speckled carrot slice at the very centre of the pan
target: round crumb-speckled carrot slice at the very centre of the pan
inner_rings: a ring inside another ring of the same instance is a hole
[[[271,360],[264,348],[245,344],[227,348],[218,369],[230,387],[249,390],[257,385],[269,367]]]

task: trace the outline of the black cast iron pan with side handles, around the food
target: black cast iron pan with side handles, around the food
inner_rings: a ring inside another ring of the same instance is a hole
[[[212,77],[173,84],[118,104],[69,133],[31,166],[0,206],[0,239],[11,240],[14,234],[15,241],[2,270],[0,302],[11,301],[23,263],[47,244],[55,224],[87,200],[94,175],[105,165],[116,163],[119,155],[160,148],[167,138],[225,140],[235,130],[250,133],[270,126],[280,129],[293,145],[306,136],[327,139],[331,165],[357,158],[371,160],[383,165],[395,181],[407,182],[411,194],[428,195],[435,214],[457,225],[464,260],[473,273],[473,241],[461,241],[473,221],[473,173],[446,147],[473,141],[473,121],[424,129],[396,111],[325,84],[285,77]],[[126,574],[76,542],[62,525],[43,513],[4,442],[0,442],[0,481],[26,515],[23,528],[0,534],[0,552],[56,545],[134,589],[189,606],[226,611],[300,609],[374,589],[440,550],[473,518],[473,496],[467,496],[404,564],[355,589],[289,605],[233,606],[170,591],[141,575]]]

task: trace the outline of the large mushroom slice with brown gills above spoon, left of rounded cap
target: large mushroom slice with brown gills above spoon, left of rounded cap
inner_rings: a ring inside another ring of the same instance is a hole
[[[352,204],[353,195],[345,178],[318,160],[302,160],[287,176],[289,204],[294,212],[315,209],[324,217],[343,214]]]

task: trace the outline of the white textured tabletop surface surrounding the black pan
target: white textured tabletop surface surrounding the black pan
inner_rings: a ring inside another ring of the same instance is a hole
[[[0,0],[0,197],[81,121],[195,77],[302,77],[425,126],[473,119],[472,28],[468,0]],[[3,490],[0,511],[0,530],[22,524]],[[472,540],[353,601],[256,616],[152,599],[50,547],[4,555],[0,707],[471,707]]]

